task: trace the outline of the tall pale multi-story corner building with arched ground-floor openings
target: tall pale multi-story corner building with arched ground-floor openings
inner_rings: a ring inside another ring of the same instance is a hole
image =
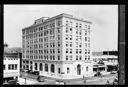
[[[69,14],[35,20],[22,29],[23,69],[61,79],[92,75],[91,25]]]

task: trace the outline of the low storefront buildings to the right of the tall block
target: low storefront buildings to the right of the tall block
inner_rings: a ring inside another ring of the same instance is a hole
[[[118,56],[104,54],[104,52],[92,52],[93,72],[100,71],[104,74],[118,70]]]

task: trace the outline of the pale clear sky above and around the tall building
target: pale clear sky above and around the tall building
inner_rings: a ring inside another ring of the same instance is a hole
[[[4,5],[4,43],[22,47],[22,29],[41,17],[67,13],[92,22],[92,51],[118,49],[118,5]]]

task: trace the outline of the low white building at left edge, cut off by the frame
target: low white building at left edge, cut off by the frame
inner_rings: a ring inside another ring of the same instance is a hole
[[[20,58],[18,53],[9,53],[4,50],[3,82],[18,79],[20,74]]]

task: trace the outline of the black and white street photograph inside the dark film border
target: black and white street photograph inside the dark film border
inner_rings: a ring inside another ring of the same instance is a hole
[[[118,85],[118,5],[4,4],[3,85]]]

